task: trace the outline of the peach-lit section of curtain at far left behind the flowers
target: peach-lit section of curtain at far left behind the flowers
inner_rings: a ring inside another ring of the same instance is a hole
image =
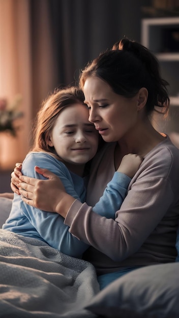
[[[42,99],[54,86],[48,2],[0,0],[0,98],[22,96],[23,118],[17,137],[0,134],[0,168],[22,162],[31,145],[32,119]],[[33,15],[33,12],[35,13]]]

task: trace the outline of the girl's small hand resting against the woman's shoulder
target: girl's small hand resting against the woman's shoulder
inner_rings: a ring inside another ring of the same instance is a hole
[[[143,157],[135,154],[129,153],[126,154],[122,161],[120,167],[118,167],[117,171],[126,174],[131,179],[136,174],[137,170],[139,169],[141,163],[143,161]]]

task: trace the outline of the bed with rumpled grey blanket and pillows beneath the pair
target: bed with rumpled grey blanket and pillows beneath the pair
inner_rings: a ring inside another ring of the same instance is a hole
[[[0,198],[0,227],[10,208]],[[0,317],[178,318],[178,260],[137,269],[99,291],[91,263],[1,229]]]

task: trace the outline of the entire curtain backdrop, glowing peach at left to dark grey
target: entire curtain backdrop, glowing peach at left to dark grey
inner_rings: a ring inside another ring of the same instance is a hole
[[[140,13],[133,0],[0,0],[0,98],[20,93],[24,113],[17,138],[0,134],[0,169],[22,162],[50,91],[77,84],[86,62],[122,37],[140,40]]]

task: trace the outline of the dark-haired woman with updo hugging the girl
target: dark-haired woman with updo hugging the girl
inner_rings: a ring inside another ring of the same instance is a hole
[[[121,40],[89,63],[80,76],[89,120],[108,143],[93,161],[86,203],[66,194],[47,170],[37,169],[49,178],[46,181],[20,177],[24,202],[61,214],[70,232],[91,245],[83,258],[96,267],[102,287],[135,268],[176,258],[179,150],[149,119],[156,106],[167,113],[167,84],[150,51]],[[92,206],[129,152],[144,160],[115,219],[107,219]],[[14,183],[15,179],[12,174]]]

